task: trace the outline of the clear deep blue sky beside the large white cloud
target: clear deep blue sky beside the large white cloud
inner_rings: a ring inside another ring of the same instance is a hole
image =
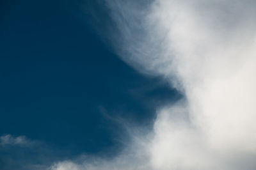
[[[109,116],[150,126],[157,104],[179,98],[102,42],[90,16],[108,22],[93,11],[102,6],[80,4],[0,2],[0,135],[25,135],[70,155],[102,153],[125,137]]]

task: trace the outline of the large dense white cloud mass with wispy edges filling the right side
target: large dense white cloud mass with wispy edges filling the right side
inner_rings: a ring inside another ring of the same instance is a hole
[[[185,100],[158,109],[154,130],[113,160],[70,169],[256,168],[256,1],[107,1],[117,54],[160,75]]]

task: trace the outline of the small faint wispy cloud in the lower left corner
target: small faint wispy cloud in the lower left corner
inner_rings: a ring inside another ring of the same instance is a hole
[[[5,134],[0,136],[0,169],[44,170],[52,162],[63,160],[65,151],[43,143],[28,139],[24,135],[14,136]]]

